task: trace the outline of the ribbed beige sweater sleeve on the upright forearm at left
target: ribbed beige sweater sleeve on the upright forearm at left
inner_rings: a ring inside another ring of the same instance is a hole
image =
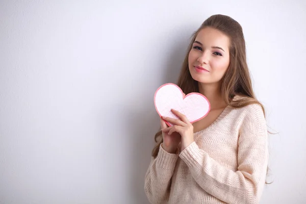
[[[145,194],[150,203],[167,203],[177,158],[178,154],[168,153],[162,145],[156,159],[151,158],[144,184]]]

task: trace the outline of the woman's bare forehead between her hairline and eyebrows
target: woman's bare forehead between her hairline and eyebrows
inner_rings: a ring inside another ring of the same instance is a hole
[[[230,47],[230,38],[222,32],[209,27],[200,30],[195,40],[207,47],[219,46],[223,49],[228,49]]]

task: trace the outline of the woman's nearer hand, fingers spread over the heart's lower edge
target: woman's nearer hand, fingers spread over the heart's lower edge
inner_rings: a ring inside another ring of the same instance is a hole
[[[164,120],[171,122],[173,126],[167,127],[162,131],[171,135],[173,132],[180,133],[182,136],[182,149],[183,151],[186,147],[188,147],[193,141],[193,125],[189,122],[187,117],[180,113],[179,111],[171,109],[172,113],[174,113],[180,119],[170,118],[170,117],[162,117]]]

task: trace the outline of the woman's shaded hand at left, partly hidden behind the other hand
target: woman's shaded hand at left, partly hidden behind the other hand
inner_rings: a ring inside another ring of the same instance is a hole
[[[161,126],[162,126],[162,130],[168,127],[167,123],[162,118],[161,118]],[[175,154],[177,147],[179,146],[181,142],[180,133],[173,132],[171,135],[168,135],[167,132],[162,132],[162,133],[163,133],[163,140],[164,140],[162,144],[162,148],[170,154]]]

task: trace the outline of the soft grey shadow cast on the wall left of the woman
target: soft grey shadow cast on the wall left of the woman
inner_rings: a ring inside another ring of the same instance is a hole
[[[192,31],[192,29],[189,31]],[[189,36],[187,36],[187,38],[186,35],[183,37],[182,35],[177,36],[175,39],[181,40],[175,42],[172,47],[169,46],[169,52],[172,53],[169,54],[169,59],[164,65],[164,67],[166,67],[164,69],[165,78],[163,80],[157,81],[161,81],[163,84],[177,82],[186,54],[187,46],[189,44]],[[159,116],[154,107],[154,92],[151,93],[151,97],[142,99],[142,107],[133,107],[133,110],[130,109],[130,111],[128,111],[130,112],[129,115],[126,116],[126,121],[130,126],[130,130],[133,131],[131,135],[134,136],[134,141],[131,141],[131,156],[133,158],[133,163],[130,166],[131,169],[129,172],[131,172],[131,195],[133,196],[135,200],[134,203],[136,204],[149,203],[144,193],[144,179],[145,173],[149,167],[151,151],[155,146],[154,136],[160,129]]]

